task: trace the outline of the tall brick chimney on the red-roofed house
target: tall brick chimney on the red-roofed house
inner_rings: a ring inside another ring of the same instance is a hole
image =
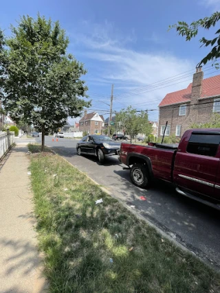
[[[202,68],[197,67],[196,72],[193,74],[193,79],[192,79],[192,93],[191,93],[190,104],[197,104],[198,103],[198,99],[201,95],[202,80],[203,80]]]

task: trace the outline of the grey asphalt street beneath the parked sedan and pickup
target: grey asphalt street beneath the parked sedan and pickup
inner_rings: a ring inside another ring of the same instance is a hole
[[[41,138],[30,141],[40,142]],[[104,165],[100,165],[94,156],[78,156],[76,143],[74,139],[53,142],[52,137],[45,138],[45,144],[72,165],[86,172],[129,206],[134,205],[138,213],[177,242],[220,268],[219,211],[177,194],[172,185],[159,180],[148,190],[135,187],[129,178],[129,170],[122,169],[117,156],[109,157]],[[141,200],[140,196],[145,196],[146,200]]]

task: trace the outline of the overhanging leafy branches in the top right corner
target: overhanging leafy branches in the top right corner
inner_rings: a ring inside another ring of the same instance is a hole
[[[205,17],[204,19],[199,19],[198,21],[193,21],[188,25],[188,23],[184,21],[178,21],[175,25],[170,25],[170,29],[175,29],[177,33],[181,36],[185,36],[186,40],[191,40],[197,36],[199,29],[202,28],[204,30],[209,30],[211,27],[214,27],[217,22],[220,20],[220,12],[214,12],[210,17]],[[215,32],[214,38],[208,40],[205,37],[202,37],[199,42],[201,43],[201,47],[210,46],[210,52],[204,57],[199,64],[198,67],[202,64],[205,65],[208,61],[216,60],[220,57],[220,29]],[[215,62],[215,66],[219,68],[219,63]]]

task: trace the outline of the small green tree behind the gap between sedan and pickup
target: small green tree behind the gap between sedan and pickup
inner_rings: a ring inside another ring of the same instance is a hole
[[[118,127],[126,134],[129,134],[131,141],[138,133],[147,136],[152,130],[148,121],[148,114],[144,111],[137,113],[137,110],[131,106],[115,113],[115,123],[118,123]]]

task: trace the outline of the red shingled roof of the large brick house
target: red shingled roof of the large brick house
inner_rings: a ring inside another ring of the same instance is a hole
[[[200,98],[220,95],[219,84],[220,74],[212,76],[212,78],[206,78],[205,80],[203,80]],[[162,102],[160,102],[159,107],[190,102],[191,91],[192,82],[188,85],[186,89],[182,89],[181,91],[174,91],[173,93],[168,93],[164,97],[164,99],[162,99]]]

